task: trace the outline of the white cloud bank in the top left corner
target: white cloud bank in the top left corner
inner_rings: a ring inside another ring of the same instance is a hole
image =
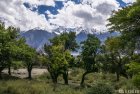
[[[39,15],[37,12],[30,11],[23,5],[22,0],[1,0],[0,14],[0,19],[6,25],[19,27],[22,31],[38,27],[47,30],[51,29],[45,15]]]

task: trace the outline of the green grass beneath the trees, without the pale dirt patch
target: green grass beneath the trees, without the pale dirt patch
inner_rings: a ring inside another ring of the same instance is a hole
[[[4,76],[0,80],[0,94],[87,94],[90,88],[81,88],[80,81],[84,70],[71,69],[69,74],[69,85],[63,84],[62,75],[58,78],[58,84],[55,91],[49,74],[35,77],[33,80],[19,79],[16,77]],[[116,82],[114,74],[91,73],[86,76],[85,83],[87,86],[98,86],[98,83],[110,85],[115,90],[118,89],[135,89],[131,80],[124,77]],[[96,89],[95,89],[96,90]]]

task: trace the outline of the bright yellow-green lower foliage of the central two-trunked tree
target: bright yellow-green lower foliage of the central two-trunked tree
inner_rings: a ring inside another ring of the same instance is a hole
[[[48,62],[48,67],[50,71],[63,72],[68,66],[66,61],[63,46],[45,46],[45,51],[48,54],[50,62]]]

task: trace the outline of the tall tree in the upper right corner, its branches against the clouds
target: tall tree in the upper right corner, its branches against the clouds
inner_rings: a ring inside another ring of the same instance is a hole
[[[131,6],[127,6],[113,13],[108,19],[110,31],[120,32],[127,41],[126,47],[132,50],[140,50],[140,0]],[[129,46],[128,46],[129,45]]]

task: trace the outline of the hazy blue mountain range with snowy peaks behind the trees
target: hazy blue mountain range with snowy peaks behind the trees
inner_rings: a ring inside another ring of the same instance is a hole
[[[116,36],[118,33],[97,33],[96,30],[88,30],[88,29],[82,29],[82,28],[64,28],[59,27],[57,29],[54,29],[53,32],[48,32],[41,29],[32,29],[29,31],[26,31],[24,33],[21,33],[21,36],[26,39],[26,43],[30,45],[31,47],[35,48],[37,51],[40,51],[43,49],[44,44],[49,44],[49,39],[60,35],[63,32],[76,32],[76,41],[79,44],[80,42],[87,39],[88,34],[95,34],[96,37],[100,39],[100,41],[103,43],[107,37],[110,36]]]

